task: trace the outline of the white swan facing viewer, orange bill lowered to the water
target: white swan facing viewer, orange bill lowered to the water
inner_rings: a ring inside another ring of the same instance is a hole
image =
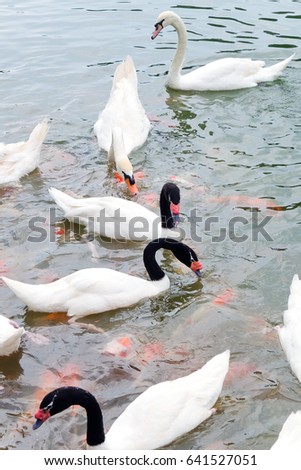
[[[144,144],[150,128],[138,95],[135,65],[128,56],[116,67],[110,96],[94,124],[94,133],[132,193],[137,193],[137,187],[128,155]]]

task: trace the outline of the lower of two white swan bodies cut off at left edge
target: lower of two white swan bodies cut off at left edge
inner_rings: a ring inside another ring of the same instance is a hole
[[[9,356],[17,351],[24,333],[23,327],[0,315],[0,356]]]

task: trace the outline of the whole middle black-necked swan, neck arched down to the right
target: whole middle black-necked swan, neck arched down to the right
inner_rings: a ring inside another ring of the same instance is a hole
[[[129,307],[169,289],[169,278],[155,258],[160,248],[170,250],[201,277],[202,265],[189,246],[171,238],[159,238],[148,243],[143,251],[150,281],[108,268],[81,269],[49,284],[25,284],[4,276],[2,280],[30,310],[67,312],[75,321],[86,315]]]

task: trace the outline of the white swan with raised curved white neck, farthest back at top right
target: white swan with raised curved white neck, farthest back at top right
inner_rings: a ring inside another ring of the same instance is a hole
[[[167,77],[167,86],[176,90],[218,91],[255,87],[260,82],[277,78],[295,55],[266,68],[261,60],[223,58],[181,75],[187,46],[187,32],[180,16],[172,11],[162,12],[157,18],[156,29],[151,38],[155,39],[168,25],[173,26],[178,33],[178,47]]]

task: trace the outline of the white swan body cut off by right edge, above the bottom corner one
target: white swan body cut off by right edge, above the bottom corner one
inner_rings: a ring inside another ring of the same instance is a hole
[[[301,382],[301,280],[297,274],[291,283],[283,326],[277,327],[277,331],[291,369]]]

